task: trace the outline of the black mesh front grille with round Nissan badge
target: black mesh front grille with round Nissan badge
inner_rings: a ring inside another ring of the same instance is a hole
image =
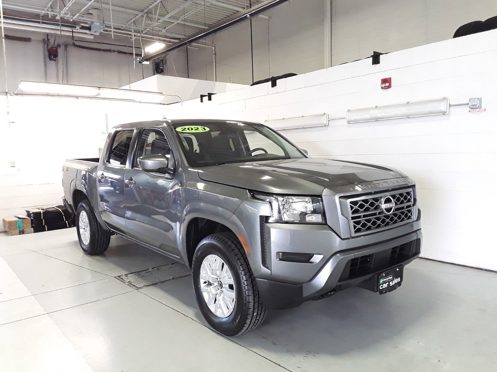
[[[344,197],[340,204],[349,220],[351,236],[385,230],[414,220],[412,188]]]

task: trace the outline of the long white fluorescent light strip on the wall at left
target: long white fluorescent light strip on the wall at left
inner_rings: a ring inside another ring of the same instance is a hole
[[[159,103],[164,98],[164,95],[159,92],[147,92],[141,90],[117,88],[99,88],[85,85],[41,83],[35,81],[21,81],[19,83],[18,90],[21,90],[22,94],[83,98],[107,98],[151,103]]]

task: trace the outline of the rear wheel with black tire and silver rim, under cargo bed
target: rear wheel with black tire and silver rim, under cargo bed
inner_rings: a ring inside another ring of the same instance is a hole
[[[88,200],[82,200],[78,206],[76,231],[81,249],[86,254],[100,254],[109,247],[110,235],[105,234],[100,227]]]

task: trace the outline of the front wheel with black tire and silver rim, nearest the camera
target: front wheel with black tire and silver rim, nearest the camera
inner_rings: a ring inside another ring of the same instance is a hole
[[[239,335],[264,320],[266,308],[245,250],[234,234],[204,238],[193,255],[192,276],[198,307],[219,333]]]

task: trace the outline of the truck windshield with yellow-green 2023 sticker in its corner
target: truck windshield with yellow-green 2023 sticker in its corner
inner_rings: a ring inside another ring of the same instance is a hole
[[[261,124],[213,122],[173,127],[193,167],[305,158],[284,137]]]

